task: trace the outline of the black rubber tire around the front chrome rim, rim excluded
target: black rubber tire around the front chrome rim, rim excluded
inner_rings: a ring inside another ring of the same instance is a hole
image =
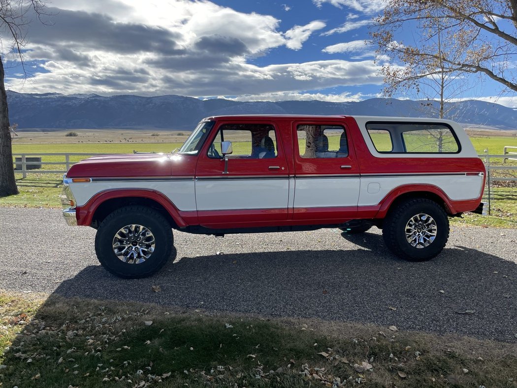
[[[142,225],[153,233],[155,250],[145,262],[129,264],[113,251],[115,234],[127,225]],[[156,273],[169,260],[173,248],[172,228],[158,211],[146,206],[125,206],[115,210],[100,224],[95,235],[95,252],[102,266],[121,278],[143,278]]]

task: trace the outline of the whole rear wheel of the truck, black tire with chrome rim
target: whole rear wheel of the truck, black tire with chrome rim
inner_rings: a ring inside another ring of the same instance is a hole
[[[384,221],[386,246],[408,261],[430,260],[449,238],[449,219],[442,206],[416,198],[394,208]]]

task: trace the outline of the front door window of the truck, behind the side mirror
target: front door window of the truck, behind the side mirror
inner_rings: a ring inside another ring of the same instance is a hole
[[[208,157],[220,159],[221,142],[231,141],[229,159],[267,159],[277,157],[275,128],[268,124],[224,124],[208,148]]]

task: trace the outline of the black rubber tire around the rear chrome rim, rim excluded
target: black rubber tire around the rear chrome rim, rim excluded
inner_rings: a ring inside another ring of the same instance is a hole
[[[406,225],[418,214],[431,216],[436,222],[436,236],[427,247],[416,248],[406,239]],[[383,237],[386,246],[398,257],[407,261],[427,261],[438,255],[449,238],[449,219],[442,206],[436,202],[415,198],[399,204],[384,220]]]

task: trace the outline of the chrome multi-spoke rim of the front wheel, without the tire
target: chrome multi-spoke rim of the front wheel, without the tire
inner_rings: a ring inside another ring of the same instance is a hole
[[[113,238],[115,256],[128,264],[145,262],[155,250],[155,236],[142,225],[126,225]]]

